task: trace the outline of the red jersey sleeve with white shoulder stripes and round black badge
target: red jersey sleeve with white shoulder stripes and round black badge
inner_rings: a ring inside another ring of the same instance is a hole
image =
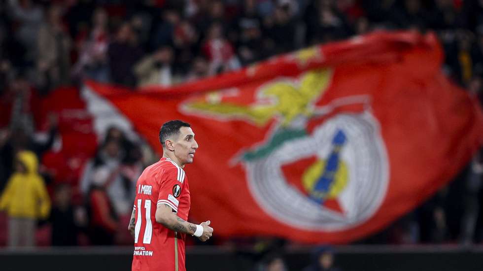
[[[160,180],[157,204],[166,204],[174,212],[178,211],[178,198],[181,195],[184,181],[184,170],[179,167],[167,169]]]

